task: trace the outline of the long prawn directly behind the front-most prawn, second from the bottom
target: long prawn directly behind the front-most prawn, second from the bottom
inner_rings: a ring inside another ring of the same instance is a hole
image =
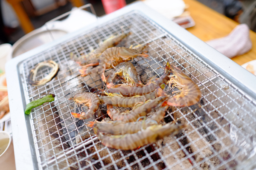
[[[89,127],[95,127],[101,133],[109,133],[112,135],[125,135],[127,133],[137,133],[142,129],[146,129],[155,123],[159,123],[165,116],[168,106],[159,108],[151,117],[146,118],[143,121],[137,122],[122,122],[122,121],[109,121],[109,122],[90,122]]]

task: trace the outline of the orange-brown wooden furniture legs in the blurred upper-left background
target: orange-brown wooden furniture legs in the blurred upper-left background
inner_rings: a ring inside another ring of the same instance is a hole
[[[26,11],[22,7],[21,3],[24,0],[6,0],[9,4],[11,4],[12,8],[15,10],[15,13],[17,14],[17,17],[20,21],[20,26],[23,29],[23,31],[27,34],[30,31],[33,31],[35,28],[32,25]],[[79,7],[83,6],[84,3],[82,0],[70,0],[73,6]]]

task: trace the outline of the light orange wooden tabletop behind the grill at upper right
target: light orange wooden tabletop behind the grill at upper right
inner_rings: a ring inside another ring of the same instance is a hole
[[[196,0],[183,1],[189,5],[186,11],[189,11],[191,17],[195,20],[195,26],[187,28],[187,30],[203,41],[224,37],[239,25],[239,23],[219,14]],[[246,54],[231,58],[239,65],[256,59],[256,33],[250,31],[250,38],[253,42],[252,49]]]

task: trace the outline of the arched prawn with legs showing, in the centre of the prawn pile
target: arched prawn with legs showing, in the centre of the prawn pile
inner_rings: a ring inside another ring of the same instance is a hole
[[[113,69],[111,74],[107,77],[107,88],[114,86],[113,79],[116,75],[123,76],[123,78],[130,82],[131,85],[141,85],[140,76],[136,71],[136,68],[131,62],[122,62]]]

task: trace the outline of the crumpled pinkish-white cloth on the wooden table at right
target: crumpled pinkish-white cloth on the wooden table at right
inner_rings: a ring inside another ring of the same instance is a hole
[[[252,48],[250,29],[246,24],[236,26],[226,37],[206,43],[229,58],[247,53]]]

